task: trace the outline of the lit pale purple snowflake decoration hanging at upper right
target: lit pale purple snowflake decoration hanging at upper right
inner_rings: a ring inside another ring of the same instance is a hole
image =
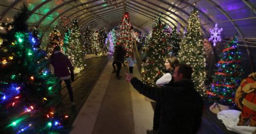
[[[211,37],[209,38],[209,41],[213,42],[213,46],[215,46],[217,42],[221,41],[221,36],[220,36],[221,33],[220,32],[222,30],[223,30],[222,28],[221,29],[218,28],[217,23],[215,24],[215,28],[210,29]]]

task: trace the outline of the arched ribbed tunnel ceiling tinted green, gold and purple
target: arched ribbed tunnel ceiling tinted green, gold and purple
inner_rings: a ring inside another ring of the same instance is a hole
[[[158,16],[171,27],[180,23],[181,32],[188,25],[189,13],[199,10],[202,30],[209,37],[209,29],[218,23],[223,37],[255,38],[256,0],[119,0],[114,7],[103,0],[1,0],[0,22],[12,22],[13,15],[25,3],[31,14],[28,24],[44,31],[52,29],[62,15],[77,19],[81,29],[87,24],[93,29],[101,26],[110,30],[121,23],[124,12],[129,12],[133,27],[149,32]]]

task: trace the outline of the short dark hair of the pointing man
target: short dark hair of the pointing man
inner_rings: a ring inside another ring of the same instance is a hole
[[[178,74],[182,73],[183,74],[183,79],[191,79],[193,70],[191,66],[181,63],[178,64],[176,67],[179,66]]]

